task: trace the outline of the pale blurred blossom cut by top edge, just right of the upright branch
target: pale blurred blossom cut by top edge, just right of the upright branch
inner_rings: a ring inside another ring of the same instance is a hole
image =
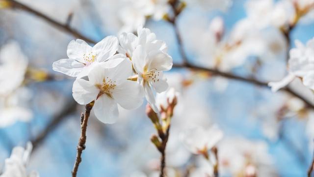
[[[201,7],[203,9],[218,9],[226,11],[231,5],[232,0],[185,0],[188,6]]]

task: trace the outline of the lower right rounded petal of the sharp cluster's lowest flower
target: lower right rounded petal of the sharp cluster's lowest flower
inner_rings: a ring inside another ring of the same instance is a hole
[[[134,81],[125,81],[112,90],[112,96],[123,108],[131,110],[143,103],[143,88]]]

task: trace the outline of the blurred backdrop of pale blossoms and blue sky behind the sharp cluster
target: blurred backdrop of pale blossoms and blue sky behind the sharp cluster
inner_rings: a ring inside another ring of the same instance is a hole
[[[274,15],[268,7],[261,10],[251,1],[256,0],[186,1],[176,25],[188,61],[263,83],[281,80],[287,74],[288,49],[295,46],[295,39],[306,43],[314,36],[313,8],[287,37],[276,26],[279,22],[269,22]],[[265,1],[275,6],[289,0]],[[41,177],[68,177],[84,108],[72,97],[74,78],[54,72],[52,62],[67,58],[68,43],[80,38],[71,30],[100,41],[107,35],[135,31],[134,26],[142,24],[166,42],[175,64],[183,61],[180,46],[173,25],[166,20],[134,20],[136,14],[126,14],[135,8],[131,0],[18,2],[45,17],[0,0],[0,83],[6,77],[21,77],[14,94],[0,94],[0,172],[13,147],[32,141],[27,169],[38,171]],[[235,49],[226,52],[222,47],[239,40]],[[13,58],[23,62],[15,59],[15,69],[4,72],[1,64]],[[165,75],[180,92],[166,150],[169,177],[193,174],[202,167],[202,160],[180,142],[180,133],[191,124],[217,124],[224,132],[218,144],[222,177],[249,177],[245,175],[248,165],[254,166],[259,177],[307,175],[314,149],[313,107],[287,91],[273,93],[267,87],[208,72],[174,67]],[[2,91],[12,82],[2,82]],[[301,80],[294,80],[290,88],[314,105],[313,91]],[[150,142],[155,129],[145,115],[145,104],[133,111],[121,108],[112,125],[91,114],[78,177],[158,174],[159,153]]]

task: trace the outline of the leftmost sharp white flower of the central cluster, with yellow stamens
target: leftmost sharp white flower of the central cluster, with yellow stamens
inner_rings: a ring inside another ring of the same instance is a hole
[[[60,59],[53,62],[52,69],[66,75],[77,77],[86,76],[94,63],[111,59],[118,50],[118,39],[107,36],[94,47],[89,46],[81,39],[72,40],[68,45],[69,59]]]

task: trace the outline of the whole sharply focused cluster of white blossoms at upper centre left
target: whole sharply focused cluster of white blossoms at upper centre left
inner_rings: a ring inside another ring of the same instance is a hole
[[[158,112],[154,92],[168,88],[163,71],[172,68],[164,41],[157,40],[150,29],[139,27],[137,35],[122,33],[107,36],[95,46],[77,39],[68,45],[68,59],[52,64],[53,70],[76,77],[73,97],[78,104],[92,101],[95,116],[104,123],[114,123],[119,104],[136,109],[145,95]]]

